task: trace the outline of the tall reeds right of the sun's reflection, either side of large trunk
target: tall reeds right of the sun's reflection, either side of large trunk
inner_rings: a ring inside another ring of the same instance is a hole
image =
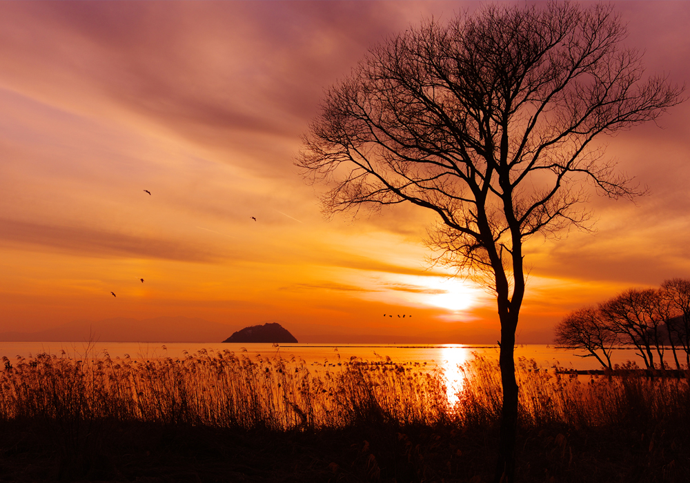
[[[516,361],[520,387],[519,424],[538,428],[561,424],[573,428],[638,426],[649,421],[690,424],[690,372],[681,377],[646,377],[627,363],[607,375],[578,376],[546,371],[533,359]],[[499,420],[502,389],[498,361],[475,355],[462,367],[466,378],[454,413],[462,424]]]

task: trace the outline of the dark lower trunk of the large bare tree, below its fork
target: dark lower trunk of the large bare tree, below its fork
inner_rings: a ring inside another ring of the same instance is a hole
[[[513,317],[510,317],[513,318]],[[503,385],[498,464],[494,483],[515,481],[515,437],[517,436],[517,382],[515,381],[515,328],[512,320],[501,321],[501,353],[499,364]]]

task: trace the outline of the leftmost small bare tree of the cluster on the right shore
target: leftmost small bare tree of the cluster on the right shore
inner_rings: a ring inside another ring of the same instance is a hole
[[[618,344],[618,334],[607,326],[601,313],[595,307],[581,308],[566,315],[555,328],[555,343],[569,348],[580,348],[589,352],[580,357],[596,357],[600,364],[609,369],[611,351]],[[606,362],[598,351],[602,352]]]

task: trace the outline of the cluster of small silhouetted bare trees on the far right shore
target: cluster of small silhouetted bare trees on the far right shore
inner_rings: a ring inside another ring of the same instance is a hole
[[[582,348],[604,367],[615,346],[634,346],[647,368],[690,367],[690,279],[666,280],[660,288],[630,288],[596,306],[566,315],[555,330],[556,344]]]

